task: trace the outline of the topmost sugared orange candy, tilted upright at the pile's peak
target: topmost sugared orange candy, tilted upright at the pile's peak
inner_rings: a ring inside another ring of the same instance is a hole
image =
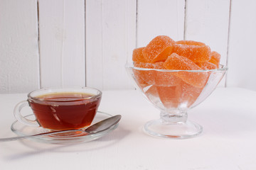
[[[142,50],[147,62],[161,62],[173,52],[175,41],[166,35],[159,35]]]

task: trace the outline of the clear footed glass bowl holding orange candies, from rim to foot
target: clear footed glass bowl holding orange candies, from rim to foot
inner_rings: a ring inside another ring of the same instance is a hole
[[[228,68],[147,69],[127,64],[126,69],[137,89],[160,111],[160,119],[147,122],[144,131],[156,137],[186,139],[203,131],[201,125],[188,120],[189,109],[214,91]]]

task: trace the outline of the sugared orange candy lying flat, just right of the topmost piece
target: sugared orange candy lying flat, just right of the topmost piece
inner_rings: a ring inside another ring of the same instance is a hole
[[[187,57],[193,62],[207,62],[210,60],[210,47],[203,42],[191,40],[177,41],[174,52]]]

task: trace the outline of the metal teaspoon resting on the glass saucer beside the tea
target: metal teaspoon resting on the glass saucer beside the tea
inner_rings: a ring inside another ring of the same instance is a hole
[[[38,137],[38,136],[43,136],[43,135],[49,135],[49,134],[55,134],[59,132],[87,132],[90,134],[97,133],[97,132],[102,132],[104,130],[107,130],[108,128],[112,127],[113,125],[116,125],[119,120],[122,118],[121,115],[114,115],[110,118],[107,118],[105,120],[102,120],[98,123],[95,123],[94,125],[89,126],[85,130],[59,130],[59,131],[54,131],[54,132],[44,132],[44,133],[39,133],[36,135],[27,135],[27,136],[18,136],[18,137],[6,137],[6,138],[0,138],[0,142],[7,142],[7,141],[13,141],[13,140],[23,140],[26,138],[31,138],[31,137]]]

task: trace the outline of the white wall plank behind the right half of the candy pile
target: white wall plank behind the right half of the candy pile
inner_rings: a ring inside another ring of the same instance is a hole
[[[187,0],[185,39],[205,42],[227,63],[230,0]],[[225,86],[225,78],[219,86]]]

